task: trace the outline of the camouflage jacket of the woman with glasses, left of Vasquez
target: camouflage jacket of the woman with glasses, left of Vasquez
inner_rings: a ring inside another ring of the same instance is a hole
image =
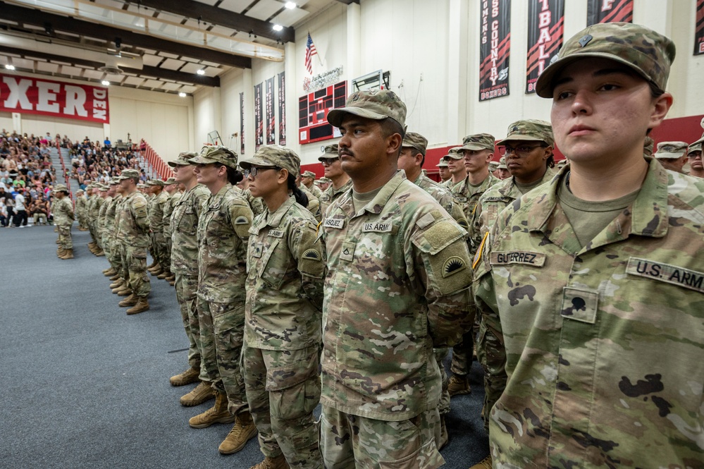
[[[320,345],[325,262],[316,225],[294,197],[254,219],[247,252],[247,346],[283,351]]]

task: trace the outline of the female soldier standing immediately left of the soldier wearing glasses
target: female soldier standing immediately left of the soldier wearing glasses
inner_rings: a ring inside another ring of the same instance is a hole
[[[257,434],[249,415],[240,355],[245,328],[247,241],[252,210],[233,184],[242,179],[237,154],[227,147],[203,147],[188,160],[211,196],[198,220],[198,321],[201,366],[215,391],[215,405],[188,424],[205,428],[235,420],[218,451],[240,451]]]

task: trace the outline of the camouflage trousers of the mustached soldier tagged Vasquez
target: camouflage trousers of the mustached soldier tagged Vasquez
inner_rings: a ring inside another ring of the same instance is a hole
[[[320,444],[327,469],[439,468],[445,464],[439,442],[437,408],[409,420],[387,422],[323,405]]]

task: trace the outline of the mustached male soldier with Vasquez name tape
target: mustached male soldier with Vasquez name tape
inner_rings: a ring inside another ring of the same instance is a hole
[[[467,231],[397,170],[405,115],[388,90],[355,92],[328,114],[353,183],[319,229],[328,469],[444,463],[433,347],[452,346],[470,326]]]

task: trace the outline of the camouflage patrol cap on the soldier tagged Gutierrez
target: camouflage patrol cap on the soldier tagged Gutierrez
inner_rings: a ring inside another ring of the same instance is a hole
[[[564,43],[538,77],[536,92],[544,98],[552,97],[557,75],[564,67],[584,57],[601,57],[622,63],[658,89],[665,90],[674,56],[674,42],[650,28],[632,23],[598,23],[581,30]]]

